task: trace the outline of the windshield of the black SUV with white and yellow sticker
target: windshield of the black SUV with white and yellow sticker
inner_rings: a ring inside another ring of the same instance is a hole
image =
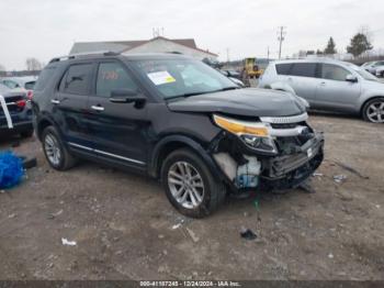
[[[194,59],[136,60],[134,65],[163,99],[236,89],[238,86]]]

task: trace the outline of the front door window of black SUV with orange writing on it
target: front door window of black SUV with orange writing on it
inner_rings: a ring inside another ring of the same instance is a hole
[[[101,63],[98,70],[97,96],[111,97],[116,89],[137,90],[136,84],[118,63]]]

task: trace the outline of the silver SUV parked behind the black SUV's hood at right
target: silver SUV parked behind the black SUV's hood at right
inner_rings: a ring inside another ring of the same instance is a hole
[[[323,58],[276,60],[268,66],[259,87],[279,82],[292,87],[310,109],[357,113],[366,121],[384,122],[384,84],[353,64]]]

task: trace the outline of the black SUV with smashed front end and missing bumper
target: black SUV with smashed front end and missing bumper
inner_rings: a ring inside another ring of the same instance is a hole
[[[303,99],[240,89],[181,55],[55,58],[33,110],[52,167],[88,158],[147,174],[189,217],[211,213],[227,191],[295,187],[323,160]]]

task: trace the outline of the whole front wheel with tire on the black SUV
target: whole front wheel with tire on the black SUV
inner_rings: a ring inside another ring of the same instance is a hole
[[[211,214],[226,196],[225,185],[213,177],[201,157],[187,148],[177,149],[166,158],[161,180],[171,204],[191,218]]]

